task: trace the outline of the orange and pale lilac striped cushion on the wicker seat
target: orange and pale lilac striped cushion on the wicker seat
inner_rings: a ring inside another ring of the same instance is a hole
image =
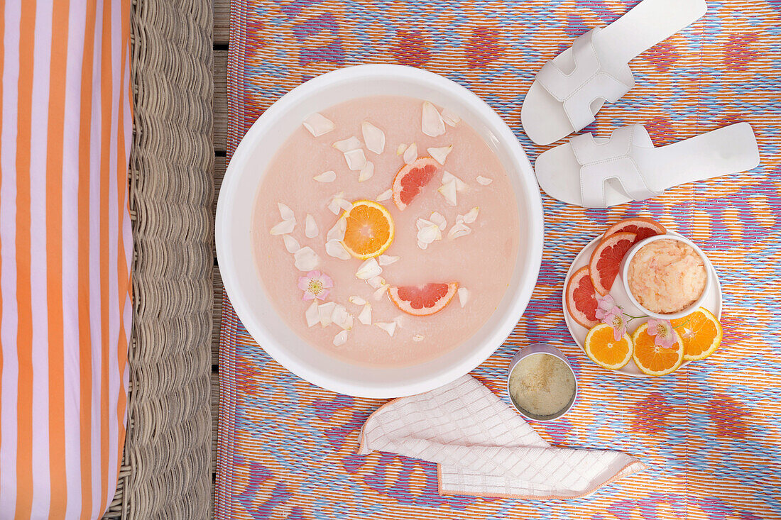
[[[125,435],[129,0],[0,0],[0,518],[98,518]]]

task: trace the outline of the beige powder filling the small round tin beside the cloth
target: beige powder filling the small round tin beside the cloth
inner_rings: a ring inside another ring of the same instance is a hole
[[[522,358],[510,373],[510,395],[531,415],[555,415],[575,394],[575,377],[561,359],[549,354]]]

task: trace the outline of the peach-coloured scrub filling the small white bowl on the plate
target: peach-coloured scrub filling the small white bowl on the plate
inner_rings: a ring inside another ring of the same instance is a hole
[[[693,305],[708,282],[702,258],[680,240],[654,240],[629,263],[629,290],[651,312],[672,314]]]

